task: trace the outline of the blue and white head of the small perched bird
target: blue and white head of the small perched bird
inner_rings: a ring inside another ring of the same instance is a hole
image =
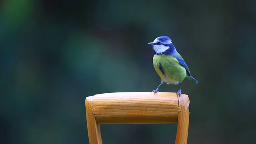
[[[175,50],[172,44],[172,39],[170,39],[168,36],[159,36],[153,42],[148,44],[152,45],[156,54],[163,54],[166,50],[170,52]]]

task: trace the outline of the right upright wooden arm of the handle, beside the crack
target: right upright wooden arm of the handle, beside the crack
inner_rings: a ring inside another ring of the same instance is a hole
[[[186,144],[188,141],[188,124],[189,124],[189,98],[182,94],[179,98],[181,109],[178,114],[178,125],[175,144]]]

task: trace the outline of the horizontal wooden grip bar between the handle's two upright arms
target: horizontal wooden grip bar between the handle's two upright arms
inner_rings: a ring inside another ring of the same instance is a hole
[[[172,123],[178,121],[175,93],[118,92],[94,96],[98,124]]]

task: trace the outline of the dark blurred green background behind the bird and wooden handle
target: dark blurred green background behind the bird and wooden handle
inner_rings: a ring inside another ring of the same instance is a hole
[[[255,143],[253,0],[1,0],[0,143],[88,144],[86,96],[155,89],[148,42],[161,35],[199,81],[182,83],[188,144]],[[105,144],[168,144],[176,124],[101,131]]]

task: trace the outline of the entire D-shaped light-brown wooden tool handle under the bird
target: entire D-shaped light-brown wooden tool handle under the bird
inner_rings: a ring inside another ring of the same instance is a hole
[[[85,100],[90,144],[102,144],[99,124],[176,123],[176,144],[188,138],[189,99],[182,94],[116,92],[96,94]]]

